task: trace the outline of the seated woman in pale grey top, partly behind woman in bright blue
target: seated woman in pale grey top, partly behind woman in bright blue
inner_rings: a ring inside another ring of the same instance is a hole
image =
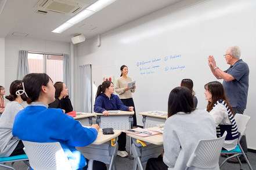
[[[5,110],[0,117],[0,157],[16,156],[25,154],[23,150],[23,143],[17,136],[12,135],[13,122],[16,114],[23,110],[23,99],[20,95],[16,95],[19,90],[21,80],[15,80],[10,84],[10,95],[5,98],[10,102],[6,104]]]

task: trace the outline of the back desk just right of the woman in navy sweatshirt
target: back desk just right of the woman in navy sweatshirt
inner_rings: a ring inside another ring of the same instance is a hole
[[[149,111],[149,112],[140,112],[139,114],[143,116],[142,122],[143,122],[143,128],[150,128],[150,127],[156,127],[156,124],[163,124],[165,123],[165,120],[167,119],[167,116],[161,116],[158,114],[152,114],[150,112],[156,112],[155,111]],[[161,112],[161,111],[157,111]]]

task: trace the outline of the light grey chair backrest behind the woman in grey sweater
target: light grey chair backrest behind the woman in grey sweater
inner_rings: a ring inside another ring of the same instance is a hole
[[[227,132],[221,138],[200,140],[196,149],[191,154],[187,168],[194,166],[198,168],[214,168],[219,166],[219,155],[225,141]]]

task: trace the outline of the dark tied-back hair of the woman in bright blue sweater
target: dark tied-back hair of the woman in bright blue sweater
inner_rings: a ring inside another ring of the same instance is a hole
[[[22,82],[24,83],[25,91],[28,97],[21,95],[23,101],[27,101],[27,104],[37,101],[39,94],[42,91],[42,86],[47,86],[49,81],[52,79],[46,75],[46,73],[30,73],[26,75]],[[21,89],[22,89],[22,85]]]

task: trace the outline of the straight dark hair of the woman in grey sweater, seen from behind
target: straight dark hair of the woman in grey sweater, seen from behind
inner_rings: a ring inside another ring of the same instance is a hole
[[[172,89],[168,99],[168,117],[178,112],[190,113],[196,110],[191,91],[188,87]]]

